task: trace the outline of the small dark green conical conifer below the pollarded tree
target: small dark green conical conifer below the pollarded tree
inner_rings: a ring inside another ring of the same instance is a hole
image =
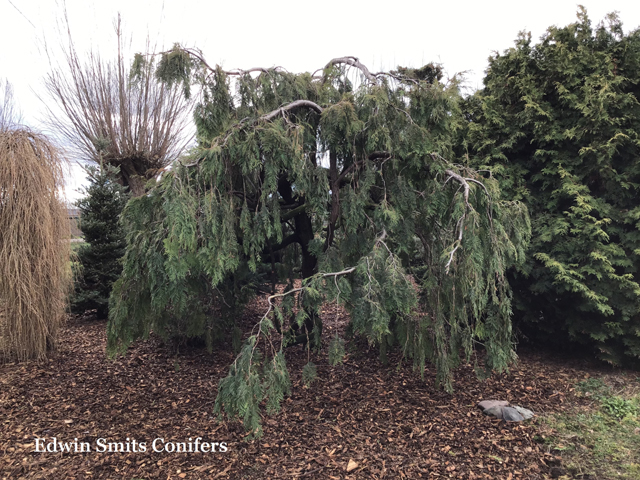
[[[95,309],[98,318],[107,318],[111,287],[122,271],[120,260],[126,243],[119,218],[128,194],[116,182],[116,168],[90,165],[86,171],[89,187],[77,205],[81,214],[80,229],[87,244],[78,252],[81,268],[72,309],[76,313]]]

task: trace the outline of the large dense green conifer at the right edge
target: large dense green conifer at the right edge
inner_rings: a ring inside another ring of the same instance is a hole
[[[640,356],[640,32],[607,20],[593,28],[581,9],[538,44],[521,34],[466,114],[478,164],[531,214],[516,317],[617,363]]]

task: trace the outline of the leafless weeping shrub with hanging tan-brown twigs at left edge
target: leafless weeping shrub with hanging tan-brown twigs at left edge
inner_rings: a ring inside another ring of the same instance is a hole
[[[63,167],[46,138],[0,131],[0,356],[46,357],[71,278]]]

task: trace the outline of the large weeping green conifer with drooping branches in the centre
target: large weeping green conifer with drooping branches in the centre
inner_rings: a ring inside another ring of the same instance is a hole
[[[528,217],[496,201],[488,174],[447,160],[458,93],[439,67],[372,73],[347,57],[315,73],[224,71],[179,47],[159,66],[186,90],[200,82],[200,148],[125,209],[112,354],[152,329],[212,335],[223,311],[269,291],[216,401],[256,433],[260,403],[277,410],[289,389],[284,348],[320,346],[323,302],[382,352],[396,343],[419,369],[433,362],[447,389],[474,342],[489,369],[507,368],[504,272],[523,259]]]

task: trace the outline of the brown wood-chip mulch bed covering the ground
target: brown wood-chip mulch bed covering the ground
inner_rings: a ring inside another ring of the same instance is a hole
[[[327,312],[327,336],[339,328],[340,315]],[[397,356],[383,366],[375,349],[358,346],[365,349],[351,349],[336,367],[326,355],[312,356],[319,379],[309,388],[300,379],[306,352],[288,349],[292,395],[279,414],[264,417],[264,436],[248,441],[241,424],[219,422],[212,413],[231,351],[176,356],[152,338],[109,361],[105,323],[76,319],[48,362],[0,366],[0,478],[548,478],[557,459],[539,442],[536,421],[504,424],[485,417],[476,403],[499,398],[537,414],[557,412],[579,401],[573,385],[594,368],[523,353],[508,375],[486,381],[462,366],[448,395],[435,388],[433,369],[421,379]],[[36,438],[52,437],[77,438],[91,451],[34,451]],[[156,438],[196,437],[226,442],[228,450],[151,450]],[[98,452],[100,438],[129,439],[130,449],[135,439],[147,451]]]

